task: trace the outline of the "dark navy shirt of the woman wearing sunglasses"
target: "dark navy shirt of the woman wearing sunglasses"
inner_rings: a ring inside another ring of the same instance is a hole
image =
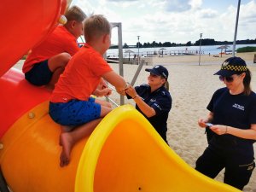
[[[250,129],[256,124],[256,94],[252,91],[249,96],[244,93],[231,95],[226,87],[216,90],[207,109],[213,113],[213,125],[228,125],[239,129]],[[243,139],[230,134],[217,135],[215,141],[219,144],[236,146],[237,143],[253,143],[254,140]]]

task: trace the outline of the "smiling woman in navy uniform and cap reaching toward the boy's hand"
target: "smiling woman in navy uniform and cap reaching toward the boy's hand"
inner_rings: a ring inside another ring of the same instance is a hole
[[[167,119],[172,108],[172,97],[165,87],[169,73],[166,67],[160,65],[152,69],[146,68],[145,71],[149,72],[148,84],[135,88],[130,85],[125,92],[128,98],[136,102],[137,110],[143,113],[167,143]]]

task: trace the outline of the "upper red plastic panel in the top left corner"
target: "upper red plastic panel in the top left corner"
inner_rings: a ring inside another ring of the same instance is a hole
[[[66,0],[0,1],[0,77],[55,28]]]

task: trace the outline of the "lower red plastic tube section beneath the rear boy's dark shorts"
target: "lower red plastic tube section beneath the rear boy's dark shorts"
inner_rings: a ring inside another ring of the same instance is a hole
[[[24,74],[11,68],[0,78],[0,138],[22,114],[49,99],[50,91],[29,84]]]

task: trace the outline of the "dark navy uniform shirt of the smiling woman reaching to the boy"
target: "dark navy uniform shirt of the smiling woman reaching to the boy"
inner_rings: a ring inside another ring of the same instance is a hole
[[[137,110],[148,119],[160,136],[166,140],[167,119],[172,108],[172,96],[170,92],[166,90],[164,86],[161,86],[158,90],[154,90],[154,92],[151,93],[151,88],[148,84],[136,86],[135,90],[137,91],[137,95],[140,96],[148,106],[154,108],[155,115],[148,118],[136,105]]]

